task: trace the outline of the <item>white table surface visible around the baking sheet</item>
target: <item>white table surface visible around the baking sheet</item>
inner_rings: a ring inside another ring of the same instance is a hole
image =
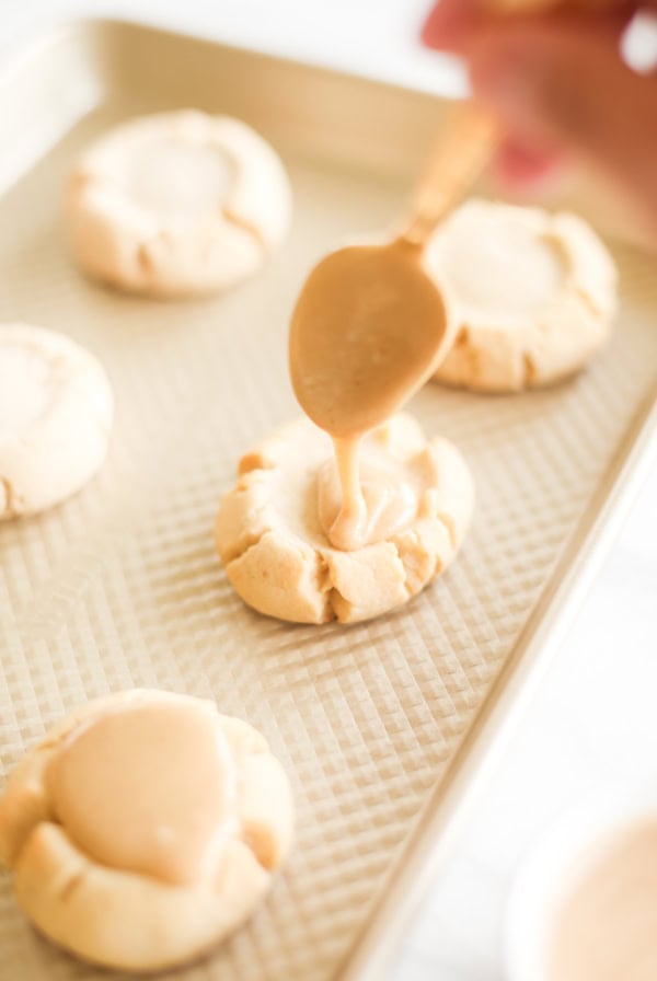
[[[426,7],[425,0],[0,0],[0,55],[68,14],[110,13],[459,92],[454,65],[417,46]],[[391,965],[390,981],[502,981],[505,901],[532,842],[593,790],[619,781],[657,785],[656,637],[657,461]]]

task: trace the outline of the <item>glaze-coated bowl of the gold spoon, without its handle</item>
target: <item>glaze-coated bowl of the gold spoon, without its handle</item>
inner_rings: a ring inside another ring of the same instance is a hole
[[[322,429],[357,438],[430,378],[452,333],[419,246],[397,239],[341,249],[312,270],[292,313],[295,394]]]

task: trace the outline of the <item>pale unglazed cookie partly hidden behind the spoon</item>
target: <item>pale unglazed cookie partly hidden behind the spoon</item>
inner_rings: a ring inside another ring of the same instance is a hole
[[[426,264],[459,321],[440,381],[485,392],[546,384],[610,335],[616,270],[575,215],[472,200],[435,234]]]

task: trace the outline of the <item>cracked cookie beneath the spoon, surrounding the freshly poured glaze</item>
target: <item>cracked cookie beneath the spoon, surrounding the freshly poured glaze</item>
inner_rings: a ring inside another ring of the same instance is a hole
[[[366,438],[361,465],[393,472],[412,509],[385,540],[345,552],[331,546],[320,516],[319,484],[334,466],[325,432],[302,418],[242,459],[215,534],[246,603],[280,620],[354,623],[405,603],[446,568],[473,507],[458,450],[441,438],[427,440],[400,414]]]

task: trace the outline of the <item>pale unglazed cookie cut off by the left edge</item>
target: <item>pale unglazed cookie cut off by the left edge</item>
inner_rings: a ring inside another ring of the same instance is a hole
[[[55,331],[0,324],[0,520],[79,490],[105,459],[112,415],[93,355]]]

